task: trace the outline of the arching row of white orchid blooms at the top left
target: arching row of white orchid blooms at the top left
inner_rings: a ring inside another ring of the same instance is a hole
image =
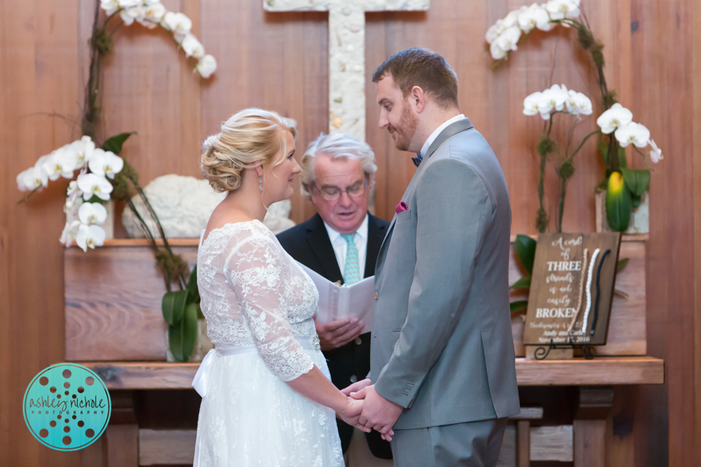
[[[100,7],[107,15],[119,13],[127,26],[138,22],[149,29],[161,26],[171,32],[186,55],[199,60],[195,68],[203,78],[209,78],[217,70],[217,60],[205,55],[205,48],[191,34],[192,20],[184,13],[167,11],[160,0],[100,0]]]

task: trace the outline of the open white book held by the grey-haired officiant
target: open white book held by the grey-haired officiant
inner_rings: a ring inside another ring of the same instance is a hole
[[[321,274],[314,272],[302,263],[299,265],[309,274],[319,291],[319,312],[316,319],[328,323],[336,319],[357,317],[365,328],[363,333],[372,330],[372,308],[374,307],[375,277],[370,276],[352,286],[339,286]]]

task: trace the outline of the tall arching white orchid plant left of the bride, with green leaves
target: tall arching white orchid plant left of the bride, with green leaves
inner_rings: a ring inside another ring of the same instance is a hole
[[[163,273],[167,292],[163,295],[163,319],[168,323],[168,341],[170,350],[178,361],[187,361],[197,340],[197,320],[203,317],[199,307],[196,268],[190,272],[182,256],[173,253],[163,226],[149,203],[144,190],[139,185],[139,176],[130,163],[118,154],[122,146],[134,132],[117,134],[105,139],[98,146],[97,129],[100,125],[102,107],[100,106],[100,64],[104,55],[112,48],[112,37],[121,25],[138,22],[149,29],[161,27],[181,47],[191,59],[194,69],[209,78],[217,69],[217,61],[212,55],[205,55],[205,49],[198,39],[191,34],[192,21],[182,13],[166,11],[158,0],[95,0],[95,19],[93,34],[90,37],[90,71],[85,91],[85,102],[81,114],[81,132],[83,137],[70,144],[43,155],[33,167],[29,167],[17,176],[17,185],[21,191],[29,193],[20,200],[25,202],[37,191],[48,186],[49,181],[61,177],[73,179],[67,188],[64,211],[67,222],[64,225],[60,241],[70,246],[75,240],[83,251],[102,246],[106,237],[102,225],[107,219],[104,203],[109,200],[126,202],[135,213],[139,227],[149,242],[156,267]],[[101,21],[100,11],[107,15]],[[107,32],[107,27],[118,22]],[[151,217],[163,244],[156,242],[144,218],[132,202],[132,193],[141,198]],[[172,291],[172,284],[178,288]]]

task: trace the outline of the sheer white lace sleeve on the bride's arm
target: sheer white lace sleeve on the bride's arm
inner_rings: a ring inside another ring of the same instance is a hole
[[[294,340],[287,321],[283,261],[273,240],[253,235],[236,242],[224,274],[273,374],[287,382],[311,370],[314,363]]]

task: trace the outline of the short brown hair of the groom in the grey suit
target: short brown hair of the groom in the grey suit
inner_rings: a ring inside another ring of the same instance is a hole
[[[372,74],[377,83],[392,76],[404,97],[418,86],[442,107],[458,106],[458,76],[448,62],[427,48],[410,48],[389,57]]]

